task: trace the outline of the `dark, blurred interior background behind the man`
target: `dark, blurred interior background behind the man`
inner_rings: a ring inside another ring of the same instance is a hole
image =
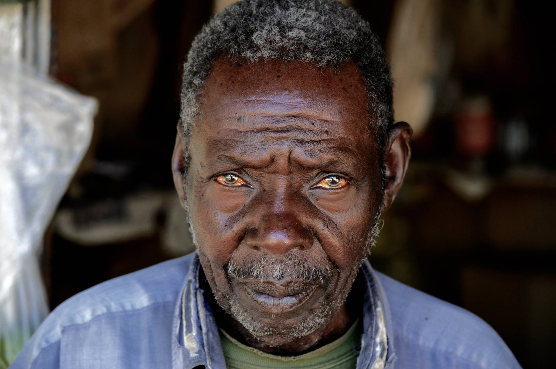
[[[50,73],[100,102],[44,237],[51,309],[193,250],[170,158],[182,63],[229,1],[52,0]],[[393,65],[413,158],[371,264],[464,307],[523,367],[556,361],[552,12],[524,0],[353,0]]]

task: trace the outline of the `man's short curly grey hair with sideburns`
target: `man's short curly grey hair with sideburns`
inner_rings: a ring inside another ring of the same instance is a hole
[[[186,165],[193,119],[200,114],[201,88],[212,63],[224,53],[228,58],[251,62],[301,60],[321,68],[336,68],[353,60],[365,78],[369,123],[378,140],[380,158],[384,156],[386,132],[393,122],[392,80],[388,61],[369,23],[335,0],[242,0],[212,17],[187,55],[180,113]]]

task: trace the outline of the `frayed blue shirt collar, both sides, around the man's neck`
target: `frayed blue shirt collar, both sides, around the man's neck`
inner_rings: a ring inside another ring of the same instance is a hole
[[[173,369],[190,369],[199,365],[209,369],[226,367],[218,327],[200,285],[200,265],[199,257],[195,254],[174,311]],[[369,261],[364,261],[359,272],[364,277],[365,294],[363,336],[357,368],[389,368],[395,360],[395,352],[388,299]]]

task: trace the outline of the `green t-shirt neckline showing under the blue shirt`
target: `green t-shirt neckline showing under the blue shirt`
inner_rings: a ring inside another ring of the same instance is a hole
[[[279,356],[249,347],[220,330],[220,342],[228,369],[304,368],[304,369],[354,369],[361,346],[359,319],[345,335],[328,345],[299,356]]]

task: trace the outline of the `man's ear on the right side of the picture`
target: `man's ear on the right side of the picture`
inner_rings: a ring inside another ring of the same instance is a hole
[[[388,143],[385,150],[386,188],[384,191],[383,204],[381,211],[384,213],[392,205],[394,198],[398,195],[401,183],[404,180],[405,172],[408,169],[409,158],[411,158],[411,148],[409,139],[413,134],[413,129],[408,123],[398,122],[388,130]]]

